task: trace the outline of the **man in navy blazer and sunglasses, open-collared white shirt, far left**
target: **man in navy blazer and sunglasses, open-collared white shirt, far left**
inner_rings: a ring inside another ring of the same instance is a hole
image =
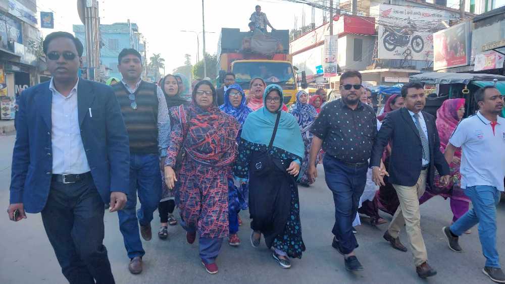
[[[44,40],[53,78],[25,90],[16,115],[9,218],[41,212],[70,283],[114,283],[104,240],[104,204],[123,208],[130,152],[111,87],[80,79],[82,43],[54,32]]]

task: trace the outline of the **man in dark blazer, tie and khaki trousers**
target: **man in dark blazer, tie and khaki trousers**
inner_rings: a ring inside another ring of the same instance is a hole
[[[424,194],[426,183],[433,186],[435,167],[442,176],[441,182],[448,183],[449,165],[440,152],[435,118],[422,111],[426,104],[423,86],[419,83],[405,84],[401,88],[401,96],[405,100],[405,107],[386,116],[375,140],[370,167],[373,168],[374,182],[377,185],[384,184],[379,166],[384,147],[391,140],[389,181],[398,194],[400,207],[384,233],[384,239],[393,248],[407,251],[398,238],[401,228],[406,225],[416,271],[419,277],[426,278],[437,272],[427,263],[428,254],[421,234],[419,198]]]

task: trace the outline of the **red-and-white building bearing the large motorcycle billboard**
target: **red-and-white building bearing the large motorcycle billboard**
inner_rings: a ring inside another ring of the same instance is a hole
[[[370,85],[395,85],[412,74],[432,71],[433,32],[460,17],[459,9],[446,7],[444,1],[358,0],[354,15],[349,0],[340,1],[339,8],[339,17],[333,21],[333,34],[338,36],[338,74],[350,69],[363,71],[364,81]],[[339,75],[324,78],[321,68],[316,68],[325,64],[327,35],[329,23],[292,40],[290,53],[293,65],[306,71],[309,82],[338,90]]]

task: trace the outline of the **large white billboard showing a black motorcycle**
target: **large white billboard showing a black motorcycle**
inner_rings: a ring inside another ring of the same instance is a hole
[[[456,13],[422,7],[379,5],[379,58],[433,61],[433,33]]]

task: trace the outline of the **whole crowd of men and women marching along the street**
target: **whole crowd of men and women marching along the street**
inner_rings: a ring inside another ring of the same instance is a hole
[[[188,244],[198,239],[211,274],[223,241],[240,245],[240,210],[251,219],[247,242],[256,248],[263,239],[276,263],[290,268],[306,250],[298,186],[314,183],[321,163],[335,203],[331,246],[348,271],[364,270],[354,234],[359,213],[379,225],[387,222],[381,210],[393,215],[384,239],[411,250],[419,277],[434,276],[419,206],[440,195],[453,213],[440,228],[450,250],[462,252],[459,238],[478,224],[482,271],[505,282],[496,249],[505,119],[495,87],[475,93],[479,110],[468,118],[464,99],[447,99],[435,119],[423,111],[423,86],[407,83],[376,116],[358,71],[341,75],[341,98],[299,91],[288,108],[282,88],[263,78],[250,81],[247,95],[233,73],[218,89],[205,78],[190,85],[182,74],[149,83],[139,52],[123,49],[122,79],[107,86],[78,77],[83,45],[73,35],[49,34],[43,51],[53,77],[18,99],[8,214],[20,221],[41,213],[70,283],[114,283],[103,245],[106,204],[117,211],[133,274],[142,272],[141,238],[151,240],[157,209],[158,237],[180,223]],[[408,246],[398,237],[403,228]]]

